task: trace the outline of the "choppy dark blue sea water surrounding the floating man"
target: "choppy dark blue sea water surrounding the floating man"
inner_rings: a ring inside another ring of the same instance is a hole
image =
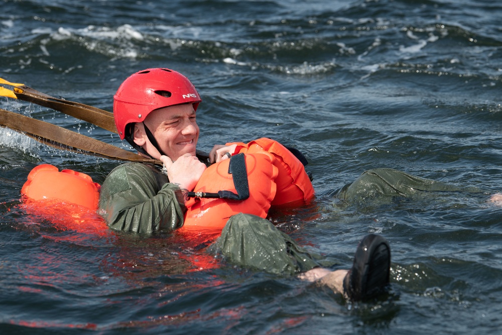
[[[347,304],[295,278],[212,261],[176,234],[62,231],[19,208],[37,164],[102,182],[117,162],[0,129],[0,333],[499,333],[502,5],[493,1],[0,2],[1,76],[111,110],[129,74],[165,66],[203,97],[200,149],[272,137],[302,150],[317,202],[272,219],[348,266],[366,233],[393,248],[390,296]],[[47,108],[0,107],[122,146]],[[346,205],[393,167],[485,194]],[[201,267],[194,267],[193,260]],[[192,261],[190,261],[192,260]]]

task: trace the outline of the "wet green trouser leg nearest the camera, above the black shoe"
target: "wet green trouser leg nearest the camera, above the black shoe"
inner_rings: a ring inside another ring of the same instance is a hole
[[[211,250],[230,263],[278,275],[294,275],[319,266],[316,256],[269,220],[250,214],[231,216]]]

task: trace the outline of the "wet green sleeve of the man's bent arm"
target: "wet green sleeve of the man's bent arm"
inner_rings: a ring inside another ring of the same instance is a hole
[[[175,230],[183,226],[185,211],[180,188],[153,165],[120,165],[101,186],[99,212],[114,230]]]

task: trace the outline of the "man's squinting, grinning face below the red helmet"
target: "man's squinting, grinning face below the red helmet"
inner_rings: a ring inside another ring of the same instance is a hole
[[[187,153],[195,156],[199,127],[191,103],[156,109],[146,117],[144,124],[154,135],[160,149],[173,161]],[[135,126],[134,142],[153,158],[159,159],[161,156],[148,140],[141,123]]]

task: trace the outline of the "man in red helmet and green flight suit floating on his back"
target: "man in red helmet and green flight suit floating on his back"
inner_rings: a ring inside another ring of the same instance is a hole
[[[147,69],[120,85],[113,104],[120,138],[141,155],[161,160],[165,171],[153,164],[125,163],[106,177],[99,208],[112,229],[148,234],[183,226],[185,193],[194,189],[206,169],[196,155],[200,102],[192,83],[169,69]],[[214,146],[208,164],[228,159],[234,150],[235,145]],[[230,262],[299,275],[351,300],[370,298],[389,284],[390,247],[378,235],[360,241],[350,270],[331,271],[269,220],[239,213],[228,219],[213,248]]]

